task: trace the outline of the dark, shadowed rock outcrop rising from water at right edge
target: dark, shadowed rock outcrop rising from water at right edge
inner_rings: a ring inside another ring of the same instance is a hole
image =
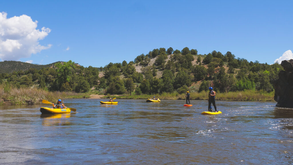
[[[293,59],[281,63],[284,68],[279,73],[279,79],[274,81],[277,107],[293,108]]]

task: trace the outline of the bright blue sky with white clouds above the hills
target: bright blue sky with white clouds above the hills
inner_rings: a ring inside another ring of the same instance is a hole
[[[236,58],[272,64],[281,56],[293,58],[292,5],[293,1],[0,1],[0,61],[72,60],[84,67],[104,67],[160,47],[188,47],[199,54],[230,51]]]

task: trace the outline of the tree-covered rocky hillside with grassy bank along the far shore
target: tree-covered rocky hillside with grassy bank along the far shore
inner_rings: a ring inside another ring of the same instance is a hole
[[[9,64],[13,65],[13,62]],[[272,101],[273,81],[283,69],[278,63],[260,64],[235,58],[229,51],[226,54],[212,51],[198,55],[196,49],[188,47],[181,51],[172,47],[154,49],[147,55],[137,56],[134,61],[110,62],[99,68],[83,67],[71,60],[56,62],[50,67],[23,70],[19,67],[21,65],[12,72],[0,72],[0,84],[9,84],[10,92],[28,90],[23,92],[23,97],[39,92],[47,93],[46,97],[50,98],[49,95],[60,92],[58,98],[68,98],[69,95],[88,97],[90,93],[99,93],[126,95],[123,96],[125,98],[156,95],[165,99],[181,99],[186,91],[190,91],[192,99],[205,100],[206,91],[212,86],[217,92],[217,99],[237,101]],[[18,94],[14,100],[13,94],[2,88],[2,102],[27,103],[17,98]],[[45,99],[45,95],[40,94],[32,102],[37,103],[39,97]]]

